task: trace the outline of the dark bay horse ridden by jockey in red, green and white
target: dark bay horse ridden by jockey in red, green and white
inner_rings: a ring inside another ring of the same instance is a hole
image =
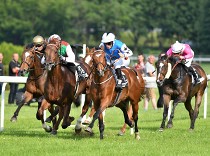
[[[85,92],[87,87],[86,80],[83,80],[80,82],[80,85],[76,90],[77,81],[75,73],[73,70],[70,70],[67,66],[63,65],[60,55],[58,54],[59,48],[59,42],[52,40],[45,49],[45,65],[48,74],[46,77],[44,96],[49,103],[55,103],[56,105],[60,106],[59,118],[53,127],[53,134],[57,133],[58,125],[62,119],[62,128],[65,129],[71,124],[68,116],[70,114],[71,104],[81,93]],[[85,66],[84,64],[81,64],[81,66],[86,68],[86,71],[88,71],[88,65]],[[87,104],[85,104],[85,106],[88,106],[90,101],[91,99],[89,96],[86,96],[85,103]],[[88,108],[83,107],[82,115],[85,114],[87,110]],[[43,115],[42,112],[43,111],[40,108],[40,116]],[[75,127],[75,132],[77,133],[81,131],[81,120],[82,118],[78,119]]]

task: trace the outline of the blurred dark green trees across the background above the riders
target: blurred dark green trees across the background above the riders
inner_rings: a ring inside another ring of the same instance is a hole
[[[57,33],[70,43],[97,46],[113,32],[134,53],[160,52],[176,40],[210,54],[208,0],[2,0],[0,43],[25,45]]]

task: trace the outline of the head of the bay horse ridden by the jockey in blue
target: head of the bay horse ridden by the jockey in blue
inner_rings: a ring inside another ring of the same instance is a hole
[[[107,69],[105,52],[102,49],[96,50],[93,48],[92,50],[94,51],[92,56],[93,67],[98,75],[102,77]]]

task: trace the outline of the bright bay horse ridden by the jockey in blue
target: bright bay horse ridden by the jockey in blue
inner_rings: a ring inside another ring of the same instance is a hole
[[[104,137],[104,122],[102,112],[107,107],[116,106],[119,107],[123,114],[125,123],[130,127],[135,127],[135,138],[140,139],[138,133],[138,102],[140,101],[141,94],[144,91],[144,86],[141,86],[141,83],[144,83],[139,72],[134,70],[123,68],[122,71],[126,75],[128,80],[128,87],[125,87],[120,93],[115,91],[116,82],[112,74],[112,66],[109,66],[106,62],[105,52],[103,49],[95,50],[93,48],[92,56],[92,74],[93,80],[91,82],[90,94],[94,103],[94,108],[96,110],[93,120],[90,125],[86,128],[85,131],[93,134],[92,128],[94,126],[95,120],[99,120],[99,131],[100,139]],[[117,96],[119,95],[119,96]],[[119,97],[119,98],[118,98]],[[134,122],[129,119],[127,108],[128,102],[130,102],[133,114],[132,118]]]

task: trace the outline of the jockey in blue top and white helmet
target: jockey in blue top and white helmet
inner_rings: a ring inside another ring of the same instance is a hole
[[[104,47],[107,63],[114,64],[115,72],[117,74],[116,90],[122,90],[122,73],[120,68],[121,66],[129,65],[130,60],[128,57],[132,56],[133,52],[125,43],[115,39],[113,33],[104,33],[99,47]]]

